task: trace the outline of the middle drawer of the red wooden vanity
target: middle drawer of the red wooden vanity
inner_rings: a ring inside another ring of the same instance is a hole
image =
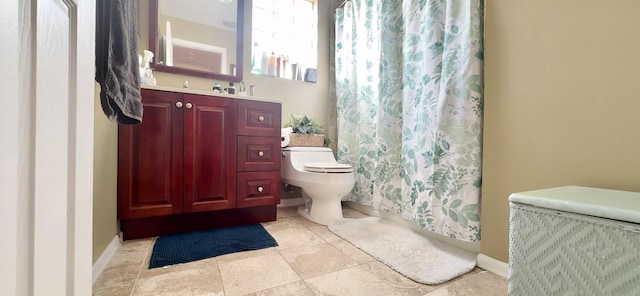
[[[279,171],[280,137],[238,136],[238,172]]]

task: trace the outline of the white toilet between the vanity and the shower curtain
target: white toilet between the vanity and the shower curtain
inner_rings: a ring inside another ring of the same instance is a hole
[[[322,225],[342,219],[340,201],[356,182],[353,167],[337,163],[325,147],[285,147],[282,157],[282,182],[302,188],[305,205],[298,213]]]

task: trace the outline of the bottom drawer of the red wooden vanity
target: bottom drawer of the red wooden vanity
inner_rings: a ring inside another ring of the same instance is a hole
[[[280,203],[280,171],[238,173],[237,180],[238,208]]]

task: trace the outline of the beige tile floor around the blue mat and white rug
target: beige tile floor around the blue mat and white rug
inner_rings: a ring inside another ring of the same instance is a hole
[[[344,214],[365,217],[349,208]],[[504,278],[479,268],[444,284],[418,284],[294,208],[278,208],[278,220],[263,225],[278,247],[166,268],[147,268],[154,238],[126,241],[93,295],[507,295]]]

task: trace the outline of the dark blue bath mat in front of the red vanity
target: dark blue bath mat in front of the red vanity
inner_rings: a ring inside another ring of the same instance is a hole
[[[278,243],[260,224],[163,235],[153,246],[149,268],[276,246]]]

